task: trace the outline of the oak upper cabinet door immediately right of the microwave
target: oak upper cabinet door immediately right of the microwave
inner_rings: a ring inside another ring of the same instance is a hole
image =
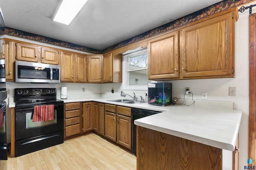
[[[61,52],[60,80],[62,82],[74,82],[75,57],[73,53]]]

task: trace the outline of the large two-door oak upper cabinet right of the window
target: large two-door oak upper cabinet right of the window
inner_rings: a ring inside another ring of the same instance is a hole
[[[148,40],[148,80],[234,77],[236,8]]]

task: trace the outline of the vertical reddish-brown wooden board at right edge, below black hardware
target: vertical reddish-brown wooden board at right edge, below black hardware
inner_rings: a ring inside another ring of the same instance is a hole
[[[256,14],[249,16],[249,150],[248,158],[256,164]]]

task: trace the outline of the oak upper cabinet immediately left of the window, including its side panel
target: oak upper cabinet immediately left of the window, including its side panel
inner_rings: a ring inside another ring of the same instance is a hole
[[[103,82],[122,82],[122,54],[103,55]]]

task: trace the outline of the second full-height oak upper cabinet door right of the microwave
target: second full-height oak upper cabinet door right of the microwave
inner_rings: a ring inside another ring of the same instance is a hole
[[[76,82],[86,82],[86,55],[76,54]]]

